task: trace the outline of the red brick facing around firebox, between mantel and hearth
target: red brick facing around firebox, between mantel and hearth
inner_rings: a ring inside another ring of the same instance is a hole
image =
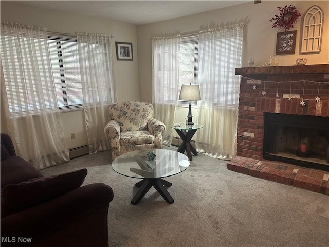
[[[262,94],[263,91],[266,94]],[[279,97],[276,97],[277,93]],[[317,96],[320,97],[318,102],[315,101]],[[292,99],[289,100],[289,97]],[[303,106],[300,105],[302,98],[305,101]],[[254,81],[242,78],[237,156],[257,160],[262,158],[265,112],[329,117],[329,83],[261,81],[260,84],[254,84]]]

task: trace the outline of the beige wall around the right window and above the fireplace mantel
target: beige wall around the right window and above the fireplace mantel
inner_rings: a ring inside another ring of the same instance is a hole
[[[324,27],[322,37],[322,47],[320,54],[299,55],[299,36],[301,17],[294,25],[297,31],[296,51],[294,55],[281,55],[278,66],[294,65],[297,58],[306,57],[307,64],[326,64],[329,62],[329,1],[262,1],[260,4],[253,4],[253,1],[217,9],[199,14],[193,14],[168,21],[161,21],[152,24],[137,26],[138,44],[138,66],[140,98],[142,101],[151,102],[151,38],[161,33],[180,31],[180,33],[196,32],[201,26],[228,25],[244,22],[245,39],[243,46],[243,66],[247,66],[248,58],[254,58],[254,63],[258,64],[269,59],[275,54],[277,29],[272,28],[269,20],[279,14],[277,6],[294,5],[303,14],[309,7],[318,5],[324,12]],[[178,111],[179,118],[184,119],[187,114],[184,108]],[[192,114],[194,116],[194,114]],[[182,117],[181,117],[182,116]]]

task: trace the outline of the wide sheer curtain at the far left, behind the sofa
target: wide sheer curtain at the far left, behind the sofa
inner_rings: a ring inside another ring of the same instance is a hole
[[[1,22],[1,96],[16,154],[42,169],[69,161],[45,29]]]

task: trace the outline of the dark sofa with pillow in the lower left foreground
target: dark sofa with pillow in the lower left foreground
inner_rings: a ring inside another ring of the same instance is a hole
[[[112,188],[86,169],[43,177],[1,134],[1,246],[108,246]]]

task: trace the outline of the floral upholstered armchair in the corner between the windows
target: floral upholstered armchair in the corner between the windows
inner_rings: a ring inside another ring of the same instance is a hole
[[[134,150],[162,148],[162,133],[166,126],[154,119],[153,113],[150,103],[126,101],[110,105],[111,120],[104,132],[111,140],[113,160]]]

